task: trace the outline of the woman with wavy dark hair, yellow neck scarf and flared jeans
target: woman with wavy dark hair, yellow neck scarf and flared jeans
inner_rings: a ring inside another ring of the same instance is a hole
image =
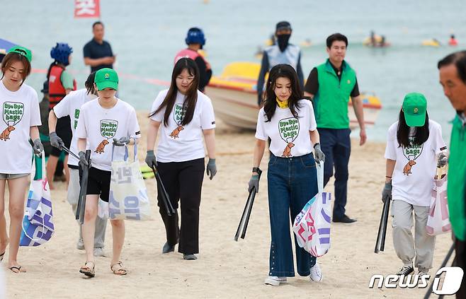
[[[265,283],[279,286],[287,282],[287,277],[295,276],[290,216],[294,221],[307,201],[317,194],[315,163],[322,165],[325,161],[312,103],[304,99],[296,71],[288,64],[273,66],[268,78],[264,106],[258,113],[249,192],[253,188],[259,190],[259,166],[269,138],[272,154],[267,182],[272,240]],[[298,274],[322,281],[316,257],[297,245],[296,236],[295,248]]]

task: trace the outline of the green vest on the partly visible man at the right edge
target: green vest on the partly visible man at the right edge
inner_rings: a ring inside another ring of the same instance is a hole
[[[453,120],[448,158],[448,211],[456,238],[466,239],[465,189],[466,189],[466,138],[465,125],[458,115]]]

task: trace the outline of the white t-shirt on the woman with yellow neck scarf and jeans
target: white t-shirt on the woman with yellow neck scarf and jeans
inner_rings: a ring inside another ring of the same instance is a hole
[[[312,152],[309,131],[317,129],[314,109],[310,100],[299,100],[298,118],[290,109],[277,106],[270,122],[267,121],[263,107],[257,118],[256,138],[271,139],[270,151],[276,157],[299,157]]]

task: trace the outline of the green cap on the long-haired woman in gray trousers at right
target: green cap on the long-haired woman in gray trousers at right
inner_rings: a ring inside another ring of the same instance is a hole
[[[409,127],[422,127],[426,123],[427,100],[421,93],[408,93],[404,96],[404,119]]]

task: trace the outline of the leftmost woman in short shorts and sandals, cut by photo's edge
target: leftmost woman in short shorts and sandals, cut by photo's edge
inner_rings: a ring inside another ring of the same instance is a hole
[[[24,84],[30,74],[29,49],[12,47],[1,61],[0,105],[0,261],[4,258],[6,245],[10,244],[8,269],[15,273],[25,272],[17,262],[21,223],[24,213],[24,194],[28,187],[31,169],[29,139],[33,140],[33,151],[43,151],[38,126],[40,111],[38,94],[34,88]],[[8,181],[10,212],[10,239],[6,233],[4,216],[5,186]]]

